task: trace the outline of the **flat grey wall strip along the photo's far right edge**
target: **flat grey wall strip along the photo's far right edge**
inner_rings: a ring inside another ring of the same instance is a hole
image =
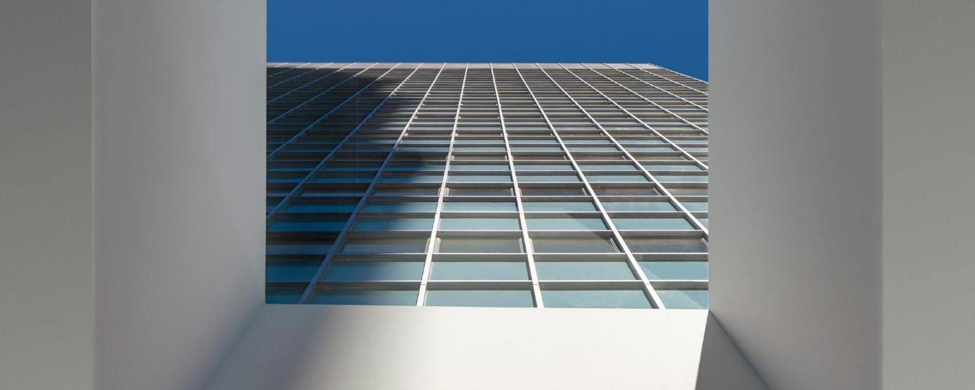
[[[883,388],[975,388],[975,2],[883,1]]]

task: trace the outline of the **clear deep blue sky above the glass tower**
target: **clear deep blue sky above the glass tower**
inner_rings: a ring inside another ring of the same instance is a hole
[[[268,0],[267,60],[651,62],[707,80],[707,0]]]

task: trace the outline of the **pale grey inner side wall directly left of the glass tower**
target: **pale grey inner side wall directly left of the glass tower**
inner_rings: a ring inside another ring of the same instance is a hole
[[[97,387],[199,388],[263,303],[265,3],[93,16]]]

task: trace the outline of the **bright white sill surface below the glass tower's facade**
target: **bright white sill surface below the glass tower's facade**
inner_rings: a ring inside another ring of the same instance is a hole
[[[267,305],[206,388],[693,389],[707,315]]]

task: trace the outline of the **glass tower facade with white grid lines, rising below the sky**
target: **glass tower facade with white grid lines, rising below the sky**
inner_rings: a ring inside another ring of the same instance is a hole
[[[708,85],[269,63],[267,301],[707,307]]]

